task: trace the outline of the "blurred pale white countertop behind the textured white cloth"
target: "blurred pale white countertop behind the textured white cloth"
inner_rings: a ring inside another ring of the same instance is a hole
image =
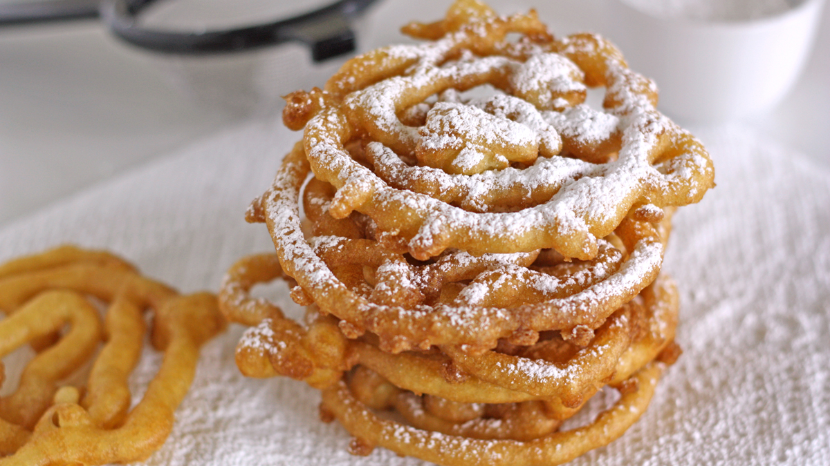
[[[601,32],[605,1],[564,0],[538,9],[554,33]],[[363,32],[360,50],[403,40],[398,27],[404,21],[437,19],[448,3],[379,0],[364,23],[371,28]],[[541,2],[491,3],[506,13]],[[320,84],[337,66],[311,70],[308,54],[299,46],[281,50],[305,75],[295,69],[290,75],[266,70],[266,77],[273,78],[266,85],[274,88],[266,93],[275,111],[280,92]],[[203,97],[183,91],[192,77],[187,73],[197,66],[176,65],[173,59],[125,45],[98,22],[0,29],[0,226],[239,124],[244,117],[227,109],[227,103],[206,104]],[[825,8],[813,56],[791,94],[766,114],[735,124],[830,167],[828,82],[830,8]]]

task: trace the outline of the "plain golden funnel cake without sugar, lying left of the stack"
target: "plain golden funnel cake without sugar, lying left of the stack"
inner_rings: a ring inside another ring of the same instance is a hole
[[[0,357],[27,343],[37,352],[0,398],[2,466],[147,459],[173,429],[200,347],[226,326],[213,294],[180,295],[115,255],[74,246],[0,265],[0,310]],[[164,360],[133,405],[128,379],[147,333]],[[87,365],[85,385],[66,381]]]

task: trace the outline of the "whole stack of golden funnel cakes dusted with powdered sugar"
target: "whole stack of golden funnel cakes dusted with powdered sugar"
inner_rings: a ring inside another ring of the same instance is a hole
[[[471,0],[403,32],[426,41],[286,97],[303,138],[247,213],[276,254],[222,286],[251,326],[237,364],[319,388],[354,454],[559,464],[608,444],[679,354],[660,268],[710,158],[599,36]],[[277,278],[305,323],[249,293]],[[603,386],[616,404],[560,430]]]

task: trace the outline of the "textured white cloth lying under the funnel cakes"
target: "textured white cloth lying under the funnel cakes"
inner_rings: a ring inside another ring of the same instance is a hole
[[[830,173],[740,128],[698,131],[718,186],[675,219],[664,270],[681,289],[677,341],[646,415],[573,464],[824,465],[830,458]],[[191,292],[272,250],[243,212],[299,138],[276,122],[218,134],[0,231],[0,260],[61,242],[114,250]],[[285,290],[268,289],[281,303]],[[167,444],[146,464],[422,464],[320,423],[318,392],[242,377],[232,326],[203,350]],[[147,350],[140,386],[160,359]],[[9,362],[9,373],[19,361]]]

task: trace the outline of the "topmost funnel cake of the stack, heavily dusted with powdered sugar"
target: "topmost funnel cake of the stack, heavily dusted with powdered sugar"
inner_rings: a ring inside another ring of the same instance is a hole
[[[476,255],[554,248],[588,259],[598,238],[632,208],[686,205],[711,186],[714,170],[701,144],[657,112],[652,81],[629,70],[607,41],[588,34],[554,40],[533,14],[465,11],[469,24],[442,22],[455,29],[438,41],[369,52],[347,63],[324,91],[291,95],[286,124],[305,126],[315,177],[337,188],[333,216],[368,215],[417,260],[447,248]],[[525,40],[506,42],[511,32]],[[436,102],[420,127],[398,118],[432,95],[481,85],[504,94]],[[608,118],[583,104],[588,85],[605,86]],[[369,169],[349,153],[346,144],[357,139],[373,142],[373,153],[388,148],[417,160],[410,171],[420,185],[397,177],[401,187],[390,186],[375,174],[384,168]],[[540,166],[525,176],[510,170],[511,163]],[[536,173],[546,168],[558,172],[553,182]],[[429,196],[473,185],[478,199],[466,204],[486,206],[505,184],[526,193],[525,203],[511,204],[515,211],[467,211],[452,202],[469,196]]]

